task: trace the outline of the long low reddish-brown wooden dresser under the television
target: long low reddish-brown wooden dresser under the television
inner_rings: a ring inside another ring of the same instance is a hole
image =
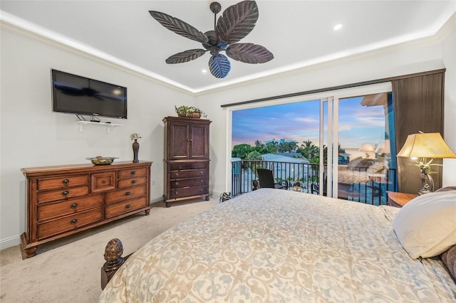
[[[150,213],[152,162],[76,164],[21,169],[26,176],[27,257],[38,245],[133,213]]]

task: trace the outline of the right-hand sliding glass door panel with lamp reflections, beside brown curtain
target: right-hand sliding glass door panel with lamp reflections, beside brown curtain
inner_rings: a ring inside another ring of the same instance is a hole
[[[328,196],[380,205],[397,186],[391,92],[321,100],[328,157],[320,182]],[[325,169],[326,167],[326,169]]]

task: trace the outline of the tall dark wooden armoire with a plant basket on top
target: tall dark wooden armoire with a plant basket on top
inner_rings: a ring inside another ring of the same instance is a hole
[[[165,117],[163,200],[209,200],[209,124],[207,119]]]

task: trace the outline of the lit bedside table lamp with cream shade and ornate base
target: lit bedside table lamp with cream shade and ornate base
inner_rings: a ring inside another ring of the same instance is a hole
[[[431,165],[442,164],[431,164],[432,159],[442,158],[456,158],[454,151],[448,147],[443,140],[442,136],[438,132],[409,134],[407,140],[402,149],[398,152],[398,156],[404,158],[420,159],[417,160],[417,166],[420,169],[420,178],[422,188],[418,191],[418,194],[429,193],[433,191],[434,183],[430,174]],[[427,161],[427,159],[430,159]],[[430,184],[427,184],[429,179]]]

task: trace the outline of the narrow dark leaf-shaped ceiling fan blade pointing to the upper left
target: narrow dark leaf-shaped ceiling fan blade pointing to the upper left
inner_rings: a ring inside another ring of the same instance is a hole
[[[207,43],[208,39],[204,33],[198,31],[195,27],[191,26],[178,18],[172,17],[168,14],[161,13],[160,11],[149,11],[150,16],[160,22],[162,26],[174,31],[180,36],[195,40],[200,43]]]

